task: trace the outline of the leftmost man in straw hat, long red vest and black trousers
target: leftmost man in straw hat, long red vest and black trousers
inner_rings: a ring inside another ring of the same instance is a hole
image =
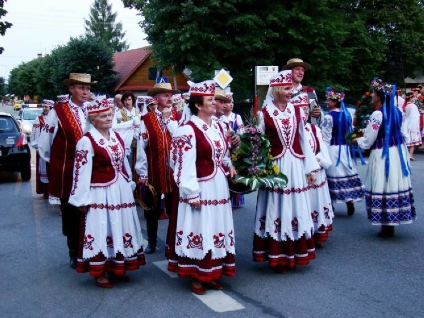
[[[76,268],[80,230],[80,212],[68,203],[72,187],[77,142],[86,128],[86,103],[90,97],[90,74],[71,73],[63,84],[69,87],[71,99],[54,106],[40,134],[38,151],[49,162],[49,194],[60,198],[62,231],[67,236],[69,265]]]

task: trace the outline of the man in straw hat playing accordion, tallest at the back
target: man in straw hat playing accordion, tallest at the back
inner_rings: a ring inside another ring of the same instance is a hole
[[[292,70],[292,81],[293,81],[293,95],[295,98],[301,93],[307,93],[309,99],[310,118],[311,124],[318,124],[321,117],[321,109],[318,105],[317,93],[312,87],[302,85],[302,80],[305,75],[305,71],[311,69],[311,65],[304,62],[300,58],[292,58],[287,61],[287,64],[283,66],[283,70]]]

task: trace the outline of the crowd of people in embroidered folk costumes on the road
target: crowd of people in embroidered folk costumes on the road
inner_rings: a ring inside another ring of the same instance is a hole
[[[301,83],[310,68],[289,60],[270,79],[257,114],[270,156],[288,177],[285,187],[259,188],[253,220],[253,261],[267,261],[277,273],[316,258],[333,228],[333,203],[346,203],[350,216],[354,202],[365,199],[381,237],[393,237],[396,225],[416,215],[410,160],[421,133],[410,96],[399,107],[394,85],[371,83],[378,107],[363,137],[351,141],[371,149],[362,182],[346,138],[352,117],[344,93],[327,90],[330,111],[322,116],[315,90]],[[231,153],[244,132],[232,94],[213,80],[190,83],[181,94],[162,79],[146,96],[126,91],[107,99],[93,96],[95,83],[89,74],[71,73],[64,80],[71,96],[43,101],[31,143],[36,191],[61,206],[70,266],[102,288],[127,282],[126,271],[158,251],[158,220],[169,218],[168,270],[190,278],[196,294],[222,289],[220,277],[235,274],[232,211],[244,203],[227,181],[237,174]]]

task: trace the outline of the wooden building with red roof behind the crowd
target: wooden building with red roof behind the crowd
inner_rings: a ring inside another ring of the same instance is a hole
[[[156,83],[157,69],[150,46],[133,50],[117,52],[113,54],[112,60],[115,66],[113,70],[117,73],[115,93],[132,91],[135,95],[145,95]],[[167,68],[159,72],[159,77],[168,77],[169,82],[175,89],[181,92],[189,90],[188,78],[183,74],[172,75],[172,69]]]

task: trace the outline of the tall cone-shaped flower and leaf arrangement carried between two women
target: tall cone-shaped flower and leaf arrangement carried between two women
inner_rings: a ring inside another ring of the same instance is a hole
[[[270,142],[262,130],[257,128],[259,120],[253,111],[250,112],[246,124],[244,134],[240,136],[240,147],[231,155],[237,171],[235,182],[244,184],[250,192],[261,185],[286,186],[287,176],[273,163]]]

